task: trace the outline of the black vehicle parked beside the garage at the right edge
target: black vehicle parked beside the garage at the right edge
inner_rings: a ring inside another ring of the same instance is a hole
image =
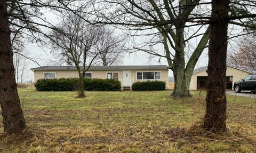
[[[251,90],[253,93],[256,92],[256,75],[250,75],[241,81],[235,82],[234,91],[241,92],[242,90]]]

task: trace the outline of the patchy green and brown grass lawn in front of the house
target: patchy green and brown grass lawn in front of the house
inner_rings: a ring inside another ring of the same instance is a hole
[[[173,100],[171,91],[19,90],[27,129],[0,135],[0,152],[256,152],[256,99],[227,96],[228,133],[199,125],[205,92]],[[3,133],[2,116],[0,131]]]

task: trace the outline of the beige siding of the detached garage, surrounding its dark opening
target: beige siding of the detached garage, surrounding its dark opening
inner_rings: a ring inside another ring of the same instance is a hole
[[[245,78],[248,75],[249,73],[247,73],[246,71],[227,66],[226,76],[233,76],[233,85],[236,81],[241,80],[242,78]],[[192,75],[189,87],[190,90],[197,89],[197,77],[200,76],[207,76],[206,70],[199,71],[198,73]]]

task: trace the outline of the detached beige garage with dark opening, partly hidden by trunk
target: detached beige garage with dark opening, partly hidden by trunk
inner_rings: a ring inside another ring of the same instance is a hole
[[[193,75],[190,81],[190,90],[203,90],[205,88],[206,80],[207,80],[206,70],[207,70],[207,66],[197,68],[193,71]],[[250,74],[249,71],[227,66],[227,72],[226,72],[227,88],[232,89],[236,81],[241,80],[242,78],[245,78],[249,74]]]

